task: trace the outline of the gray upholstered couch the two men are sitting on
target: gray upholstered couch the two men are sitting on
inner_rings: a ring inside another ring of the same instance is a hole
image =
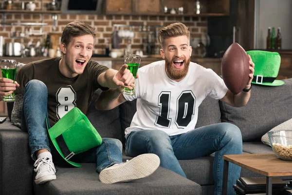
[[[94,99],[99,95],[96,91]],[[199,107],[196,127],[230,122],[242,133],[244,153],[272,153],[260,138],[276,125],[292,118],[292,78],[278,87],[254,85],[248,104],[234,108],[212,98]],[[87,116],[102,137],[114,137],[125,142],[123,131],[135,112],[135,101],[125,102],[110,111],[96,111],[94,105]],[[193,160],[180,160],[187,179],[162,167],[151,176],[118,184],[102,184],[94,163],[82,163],[81,168],[56,164],[57,179],[43,185],[33,184],[33,161],[29,155],[28,135],[10,121],[0,124],[0,195],[21,194],[145,194],[145,195],[212,195],[213,155]],[[124,155],[124,159],[129,157]],[[242,169],[241,176],[260,176]],[[292,177],[282,177],[291,180]]]

